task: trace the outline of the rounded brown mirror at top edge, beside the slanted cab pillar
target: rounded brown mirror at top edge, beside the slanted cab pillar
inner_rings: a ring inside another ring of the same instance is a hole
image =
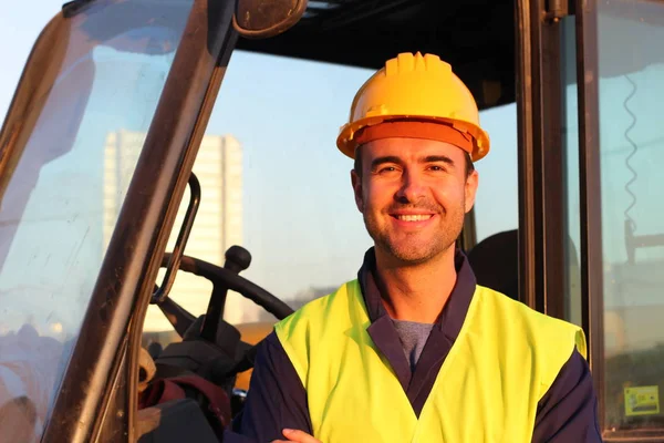
[[[267,39],[294,25],[308,0],[237,0],[232,27],[248,39]]]

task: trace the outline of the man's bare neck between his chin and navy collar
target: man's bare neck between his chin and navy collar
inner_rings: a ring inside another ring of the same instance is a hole
[[[456,284],[454,245],[418,265],[404,265],[385,251],[375,250],[376,285],[390,317],[422,323],[436,322]]]

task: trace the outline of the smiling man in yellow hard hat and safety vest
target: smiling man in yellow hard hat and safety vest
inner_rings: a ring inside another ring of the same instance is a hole
[[[357,279],[262,343],[238,432],[259,442],[599,442],[582,331],[476,285],[455,249],[489,151],[435,55],[400,54],[357,92],[354,158],[374,240]]]

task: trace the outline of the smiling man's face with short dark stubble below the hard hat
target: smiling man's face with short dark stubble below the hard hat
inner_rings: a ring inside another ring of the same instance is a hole
[[[454,246],[475,203],[477,172],[466,177],[464,152],[419,138],[363,145],[362,177],[351,173],[369,234],[402,264],[421,264]]]

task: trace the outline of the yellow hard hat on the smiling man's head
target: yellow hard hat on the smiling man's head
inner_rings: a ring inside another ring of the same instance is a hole
[[[464,148],[474,162],[489,152],[489,135],[479,126],[477,103],[468,87],[439,56],[419,52],[401,53],[388,60],[360,87],[351,106],[350,121],[341,127],[336,146],[354,158],[361,144],[357,132],[381,123],[411,121],[456,130],[467,137],[468,148]],[[433,135],[422,137],[435,138]]]

